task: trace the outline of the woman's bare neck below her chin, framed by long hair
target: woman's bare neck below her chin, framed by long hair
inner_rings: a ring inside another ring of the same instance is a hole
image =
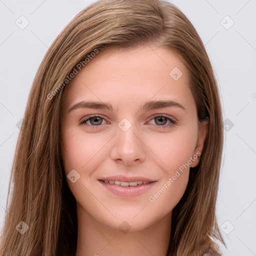
[[[104,225],[78,207],[77,221],[75,256],[166,255],[170,237],[171,212],[149,227],[134,232],[121,232]]]

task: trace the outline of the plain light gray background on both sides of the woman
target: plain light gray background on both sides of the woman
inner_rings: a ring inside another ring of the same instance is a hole
[[[1,227],[17,123],[35,72],[57,34],[91,2],[0,0]],[[228,245],[223,255],[256,255],[256,0],[171,2],[201,36],[221,93],[227,124],[217,203],[218,223]]]

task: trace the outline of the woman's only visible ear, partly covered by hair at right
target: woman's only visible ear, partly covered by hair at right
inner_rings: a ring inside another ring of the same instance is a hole
[[[198,125],[199,125],[198,138],[197,138],[196,146],[195,146],[194,152],[193,152],[193,155],[197,155],[197,158],[194,158],[190,167],[195,167],[198,164],[198,162],[200,160],[200,154],[203,149],[203,143],[204,143],[205,137],[208,133],[208,120],[200,121]],[[200,152],[199,155],[198,155],[198,152]]]

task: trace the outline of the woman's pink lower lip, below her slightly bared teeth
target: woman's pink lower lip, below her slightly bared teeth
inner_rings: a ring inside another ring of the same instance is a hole
[[[109,184],[109,183],[105,183],[102,180],[99,180],[99,182],[106,189],[108,189],[114,194],[117,194],[120,196],[132,197],[132,196],[137,196],[145,193],[155,184],[156,181],[149,182],[147,184],[136,185],[136,186],[121,186],[121,185]]]

